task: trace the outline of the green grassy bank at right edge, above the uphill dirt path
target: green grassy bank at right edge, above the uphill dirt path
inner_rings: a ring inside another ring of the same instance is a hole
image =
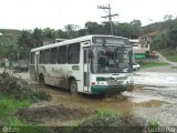
[[[171,49],[160,49],[158,52],[160,52],[167,60],[177,62],[177,51]]]

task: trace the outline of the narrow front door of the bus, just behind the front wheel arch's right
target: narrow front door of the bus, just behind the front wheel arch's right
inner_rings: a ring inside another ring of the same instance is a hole
[[[90,85],[90,60],[88,60],[88,48],[83,48],[83,91],[88,92]]]

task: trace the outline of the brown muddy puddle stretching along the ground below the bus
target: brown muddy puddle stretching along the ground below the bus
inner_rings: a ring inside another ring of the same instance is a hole
[[[127,95],[115,95],[113,98],[102,98],[81,94],[80,96],[72,96],[67,91],[46,89],[46,91],[53,96],[53,100],[46,102],[48,105],[64,104],[70,108],[72,106],[85,106],[92,109],[114,110],[122,113],[128,113],[134,106],[160,106],[167,102],[150,100],[134,102],[132,96]]]

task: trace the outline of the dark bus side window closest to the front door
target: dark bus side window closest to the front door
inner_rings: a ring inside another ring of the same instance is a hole
[[[80,43],[69,45],[69,64],[76,64],[80,62]]]

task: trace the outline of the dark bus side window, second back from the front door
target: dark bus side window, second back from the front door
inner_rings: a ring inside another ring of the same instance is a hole
[[[66,63],[66,45],[59,47],[58,63],[59,64],[65,64]]]

